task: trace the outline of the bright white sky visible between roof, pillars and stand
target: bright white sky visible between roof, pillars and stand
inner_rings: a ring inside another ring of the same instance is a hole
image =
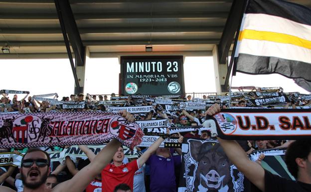
[[[74,93],[69,59],[0,59],[0,69],[0,89],[30,91],[30,96],[57,92],[60,98]],[[86,63],[84,93],[118,93],[119,73],[118,58],[90,58]],[[186,93],[216,92],[213,58],[186,57],[184,82]],[[237,73],[231,86],[282,87],[284,92],[309,93],[279,74]]]

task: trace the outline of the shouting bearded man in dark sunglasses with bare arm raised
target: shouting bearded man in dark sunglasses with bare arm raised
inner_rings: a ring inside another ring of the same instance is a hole
[[[133,122],[131,113],[123,111],[122,116]],[[120,147],[120,142],[112,139],[93,161],[79,171],[71,180],[58,184],[52,192],[83,192],[90,182],[101,173],[110,163],[112,157]],[[23,192],[47,192],[45,181],[50,173],[50,158],[48,154],[39,149],[30,149],[21,161],[21,179],[24,184]],[[9,188],[1,187],[0,192],[15,192]]]

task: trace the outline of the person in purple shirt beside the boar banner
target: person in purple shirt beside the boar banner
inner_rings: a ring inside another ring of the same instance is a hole
[[[176,192],[175,167],[181,164],[181,149],[176,152],[179,155],[172,156],[169,148],[158,148],[146,162],[150,165],[150,192]]]

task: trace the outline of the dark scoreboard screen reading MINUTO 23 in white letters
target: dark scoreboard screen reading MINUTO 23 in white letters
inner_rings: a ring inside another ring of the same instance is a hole
[[[122,56],[121,94],[184,95],[183,56]]]

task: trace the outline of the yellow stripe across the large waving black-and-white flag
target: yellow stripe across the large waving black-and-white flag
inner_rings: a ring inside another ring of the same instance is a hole
[[[245,29],[240,31],[239,34],[239,40],[241,41],[242,39],[266,40],[277,43],[292,44],[311,49],[311,41],[284,33]]]

